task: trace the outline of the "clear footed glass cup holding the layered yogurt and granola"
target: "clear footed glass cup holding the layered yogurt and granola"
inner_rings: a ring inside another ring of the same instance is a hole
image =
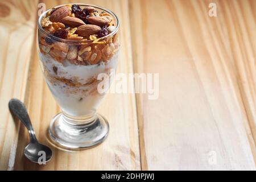
[[[115,28],[97,40],[67,40],[52,36],[42,27],[40,22],[51,9],[38,20],[40,65],[49,90],[61,109],[48,127],[49,138],[58,147],[69,150],[96,146],[107,137],[108,121],[96,110],[113,80],[119,54],[117,16],[99,6],[78,5],[81,8],[93,6],[99,12],[110,14]],[[104,84],[106,81],[109,84]]]

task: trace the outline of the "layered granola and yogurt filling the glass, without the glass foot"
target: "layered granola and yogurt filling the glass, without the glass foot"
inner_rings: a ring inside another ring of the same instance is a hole
[[[39,58],[61,109],[81,115],[100,104],[100,73],[117,68],[117,19],[92,6],[52,8],[40,20]]]

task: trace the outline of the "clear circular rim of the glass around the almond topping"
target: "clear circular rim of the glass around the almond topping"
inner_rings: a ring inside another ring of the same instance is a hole
[[[119,30],[119,19],[117,17],[117,15],[115,15],[112,11],[110,11],[109,9],[105,9],[104,7],[101,7],[101,6],[97,6],[97,5],[90,5],[90,4],[86,4],[86,3],[67,3],[67,4],[64,4],[64,5],[59,5],[59,6],[55,6],[55,8],[58,8],[58,7],[62,7],[62,6],[66,6],[66,5],[79,5],[79,6],[92,6],[92,7],[96,7],[97,9],[101,9],[103,11],[106,11],[107,13],[109,13],[110,15],[112,15],[116,22],[117,22],[117,26],[115,27],[115,30],[113,32],[111,32],[110,34],[102,37],[102,38],[98,38],[96,40],[102,40],[102,39],[106,39],[106,38],[109,38],[111,36],[114,36],[117,31]],[[53,8],[53,7],[52,7]],[[42,15],[39,16],[38,18],[38,28],[40,31],[42,31],[44,34],[50,36],[50,37],[53,37],[54,39],[56,40],[59,40],[60,42],[69,42],[69,43],[88,43],[88,42],[93,42],[93,40],[67,40],[67,39],[61,39],[61,38],[57,38],[56,36],[53,36],[52,34],[49,34],[46,30],[44,30],[44,28],[41,26],[41,20],[44,16],[46,16],[46,14],[52,10],[51,9],[48,9],[47,11],[45,11]]]

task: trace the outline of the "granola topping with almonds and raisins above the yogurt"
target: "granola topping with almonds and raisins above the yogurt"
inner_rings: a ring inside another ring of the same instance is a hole
[[[117,28],[114,18],[92,6],[53,8],[42,18],[41,26],[48,34],[39,37],[40,51],[59,63],[98,64],[111,59],[119,48],[118,34],[108,36]]]

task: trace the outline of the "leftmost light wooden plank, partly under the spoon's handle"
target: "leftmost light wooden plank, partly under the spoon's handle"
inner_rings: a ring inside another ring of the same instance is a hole
[[[10,98],[24,101],[35,30],[36,1],[0,2],[0,170],[11,169],[19,122],[8,109]],[[18,17],[18,18],[17,18]]]

